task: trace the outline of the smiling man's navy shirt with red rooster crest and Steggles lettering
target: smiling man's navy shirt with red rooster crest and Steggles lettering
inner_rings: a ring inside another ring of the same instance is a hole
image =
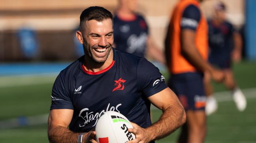
[[[99,72],[82,66],[84,56],[62,70],[52,87],[52,109],[73,109],[69,129],[88,132],[106,111],[120,112],[131,122],[151,125],[149,96],[167,88],[159,69],[145,58],[114,48],[112,64]]]

